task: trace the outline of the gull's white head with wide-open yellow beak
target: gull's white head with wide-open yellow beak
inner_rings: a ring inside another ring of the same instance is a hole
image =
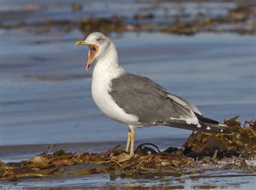
[[[75,46],[81,44],[89,47],[89,58],[87,61],[86,71],[89,69],[90,65],[95,59],[99,59],[105,55],[106,50],[109,48],[111,43],[111,38],[105,36],[101,32],[93,32],[87,36],[84,41],[77,41],[75,43]]]

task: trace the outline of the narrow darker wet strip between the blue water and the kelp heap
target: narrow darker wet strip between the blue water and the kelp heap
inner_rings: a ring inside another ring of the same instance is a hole
[[[186,138],[177,139],[149,139],[137,140],[136,146],[144,142],[151,142],[159,146],[161,150],[168,147],[181,147]],[[50,152],[65,150],[71,152],[105,152],[114,146],[121,145],[125,147],[126,141],[103,141],[103,142],[74,142],[50,144]],[[0,160],[17,161],[23,158],[30,158],[31,155],[41,154],[48,150],[49,144],[32,144],[32,145],[5,145],[0,146]]]

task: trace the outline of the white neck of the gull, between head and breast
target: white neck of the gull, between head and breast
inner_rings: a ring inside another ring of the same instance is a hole
[[[104,57],[95,60],[92,72],[92,80],[111,80],[125,72],[118,61],[117,50],[114,44],[110,44],[104,53]]]

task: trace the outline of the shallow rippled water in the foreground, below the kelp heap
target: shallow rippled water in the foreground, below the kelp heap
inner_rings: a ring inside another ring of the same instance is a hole
[[[254,189],[255,174],[241,171],[208,171],[205,174],[182,177],[147,177],[142,179],[110,178],[109,174],[90,174],[78,177],[23,179],[21,182],[0,182],[2,189]]]

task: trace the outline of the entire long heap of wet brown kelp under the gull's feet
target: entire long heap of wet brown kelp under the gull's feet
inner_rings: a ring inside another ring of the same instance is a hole
[[[231,134],[205,132],[192,133],[184,148],[169,147],[165,151],[151,143],[139,145],[130,160],[118,162],[113,157],[126,153],[120,145],[102,153],[71,153],[64,150],[49,154],[50,147],[42,154],[21,161],[5,164],[0,161],[0,180],[19,181],[31,177],[67,177],[92,173],[110,173],[116,178],[154,178],[221,169],[246,169],[256,171],[256,123],[238,116],[224,119]],[[206,166],[211,168],[205,169]]]

